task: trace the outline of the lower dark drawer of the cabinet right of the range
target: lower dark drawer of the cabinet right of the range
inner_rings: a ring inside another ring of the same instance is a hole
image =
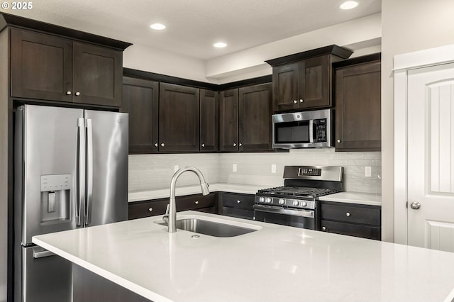
[[[381,240],[380,227],[321,220],[321,230],[323,232]]]

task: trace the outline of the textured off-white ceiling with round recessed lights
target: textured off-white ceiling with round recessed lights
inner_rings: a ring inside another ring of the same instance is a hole
[[[35,0],[0,11],[208,60],[381,11],[381,0],[357,1],[341,11],[342,0]]]

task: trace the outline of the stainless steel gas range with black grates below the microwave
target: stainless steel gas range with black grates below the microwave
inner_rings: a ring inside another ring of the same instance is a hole
[[[343,167],[285,166],[284,186],[255,194],[254,220],[320,229],[319,197],[343,190]]]

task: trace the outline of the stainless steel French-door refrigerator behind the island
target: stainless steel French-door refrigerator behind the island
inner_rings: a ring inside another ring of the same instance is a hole
[[[128,218],[128,114],[24,105],[15,123],[14,300],[72,301],[72,264],[31,239]]]

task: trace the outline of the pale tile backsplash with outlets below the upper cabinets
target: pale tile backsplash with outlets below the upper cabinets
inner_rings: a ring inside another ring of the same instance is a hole
[[[233,172],[236,164],[236,172]],[[272,164],[276,172],[272,173]],[[201,170],[209,183],[258,184],[281,186],[286,165],[344,167],[345,191],[381,193],[381,152],[334,152],[327,149],[294,149],[270,153],[214,153],[178,155],[129,155],[129,191],[168,188],[175,166],[193,166]],[[371,176],[365,176],[371,167]],[[195,174],[182,174],[179,186],[198,184]]]

